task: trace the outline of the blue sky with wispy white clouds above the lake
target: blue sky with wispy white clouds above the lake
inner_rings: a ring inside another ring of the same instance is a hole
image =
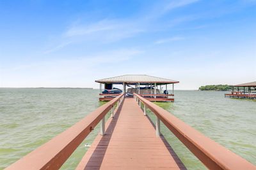
[[[93,87],[148,74],[175,89],[256,81],[255,0],[0,0],[0,87]]]

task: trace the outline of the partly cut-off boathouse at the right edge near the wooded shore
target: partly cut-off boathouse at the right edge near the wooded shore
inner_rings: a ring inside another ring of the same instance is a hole
[[[256,81],[232,86],[231,94],[225,94],[225,97],[256,99]]]

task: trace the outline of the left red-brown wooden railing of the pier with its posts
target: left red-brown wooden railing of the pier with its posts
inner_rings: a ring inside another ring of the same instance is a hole
[[[114,106],[116,103],[120,106],[123,99],[124,94],[115,97],[6,169],[60,169],[100,121],[100,134],[105,134],[106,114],[111,110],[111,117],[114,117]]]

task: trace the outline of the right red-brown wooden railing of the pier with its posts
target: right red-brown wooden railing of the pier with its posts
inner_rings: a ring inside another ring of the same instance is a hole
[[[207,138],[185,124],[170,112],[147,99],[134,94],[139,106],[143,103],[144,115],[149,108],[156,115],[156,135],[160,136],[160,120],[209,169],[256,169],[256,166]]]

